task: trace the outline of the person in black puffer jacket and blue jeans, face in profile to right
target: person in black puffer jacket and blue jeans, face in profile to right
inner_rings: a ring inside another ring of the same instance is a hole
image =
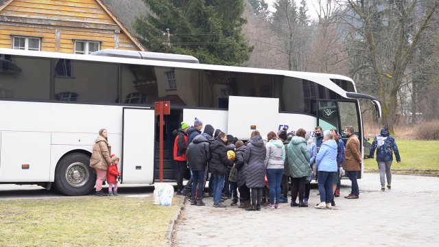
[[[233,161],[227,157],[226,133],[220,132],[218,139],[211,144],[211,162],[209,162],[209,172],[214,180],[213,188],[213,207],[225,208],[226,205],[220,202],[221,192],[224,187],[224,178],[228,172],[227,167],[233,166]]]

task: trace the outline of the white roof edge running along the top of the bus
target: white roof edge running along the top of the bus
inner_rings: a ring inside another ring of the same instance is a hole
[[[105,50],[102,50],[103,52]],[[137,51],[139,52],[139,51]],[[141,65],[152,65],[158,67],[177,67],[181,69],[202,69],[202,70],[212,70],[212,71],[229,71],[229,72],[241,72],[241,73],[258,73],[266,75],[284,75],[286,77],[300,78],[304,80],[309,80],[311,82],[316,82],[327,89],[331,89],[338,95],[342,97],[350,98],[346,95],[346,91],[342,89],[337,84],[333,83],[331,79],[347,80],[353,82],[351,78],[344,75],[336,74],[326,74],[326,73],[311,73],[311,72],[300,72],[300,71],[284,71],[277,69],[260,69],[251,67],[234,67],[225,65],[214,65],[214,64],[199,64],[191,62],[176,62],[169,60],[153,60],[151,58],[127,58],[122,56],[124,53],[121,52],[121,56],[95,56],[95,55],[82,55],[82,54],[66,54],[51,51],[25,51],[19,49],[7,49],[0,48],[0,54],[10,54],[17,56],[32,56],[32,57],[42,57],[42,58],[62,58],[62,59],[72,59],[72,60],[85,60],[85,61],[96,61],[96,62],[115,62],[124,64],[141,64]],[[129,54],[129,53],[125,53]],[[176,54],[168,54],[170,56],[175,56]],[[185,56],[185,55],[179,55]],[[189,56],[190,57],[190,56]],[[355,86],[355,84],[354,84]],[[356,89],[355,89],[356,91]]]

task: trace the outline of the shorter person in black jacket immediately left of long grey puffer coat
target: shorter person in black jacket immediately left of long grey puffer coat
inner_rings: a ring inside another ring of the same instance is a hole
[[[238,170],[237,180],[238,180],[238,190],[241,202],[239,205],[240,209],[247,209],[250,207],[250,189],[246,185],[247,174],[248,174],[248,164],[244,162],[244,152],[246,152],[246,145],[244,142],[237,141],[236,145],[236,159],[235,167]]]

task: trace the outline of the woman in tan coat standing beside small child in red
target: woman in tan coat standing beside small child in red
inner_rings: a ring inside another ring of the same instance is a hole
[[[108,132],[106,129],[99,130],[99,136],[93,144],[90,166],[96,170],[96,196],[104,196],[102,182],[106,178],[108,166],[112,163],[111,146],[108,144]]]

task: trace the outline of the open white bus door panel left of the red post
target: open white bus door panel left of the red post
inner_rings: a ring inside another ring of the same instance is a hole
[[[123,108],[122,182],[154,182],[155,113],[150,108]]]

